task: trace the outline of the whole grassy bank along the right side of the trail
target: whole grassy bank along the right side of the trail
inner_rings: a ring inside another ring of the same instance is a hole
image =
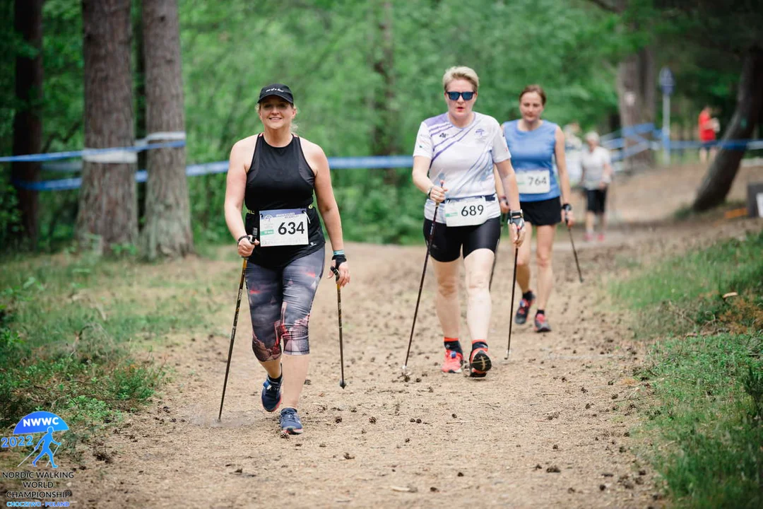
[[[611,288],[642,337],[662,338],[640,373],[656,396],[645,433],[678,507],[763,507],[761,253],[763,232]]]

